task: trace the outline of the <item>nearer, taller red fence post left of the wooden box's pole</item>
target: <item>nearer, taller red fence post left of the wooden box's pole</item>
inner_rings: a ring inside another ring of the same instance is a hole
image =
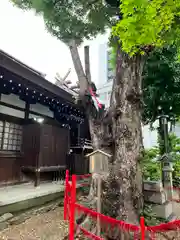
[[[69,220],[69,240],[74,240],[75,203],[76,203],[76,175],[72,175],[70,220]]]

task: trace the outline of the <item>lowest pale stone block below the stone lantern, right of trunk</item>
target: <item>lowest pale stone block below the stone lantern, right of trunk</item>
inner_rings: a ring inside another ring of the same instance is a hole
[[[173,213],[173,204],[172,202],[165,202],[162,205],[153,206],[152,210],[157,217],[168,219]]]

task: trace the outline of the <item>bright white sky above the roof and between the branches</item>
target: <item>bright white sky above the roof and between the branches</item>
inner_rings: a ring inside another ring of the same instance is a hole
[[[85,42],[90,46],[90,64],[92,80],[96,82],[98,46],[107,42],[108,35],[98,36]],[[63,77],[69,68],[69,78],[73,83],[77,76],[66,45],[50,35],[43,18],[33,11],[25,12],[13,6],[9,0],[0,0],[0,49],[47,74],[47,79],[54,82],[56,72]],[[83,46],[79,49],[83,61]]]

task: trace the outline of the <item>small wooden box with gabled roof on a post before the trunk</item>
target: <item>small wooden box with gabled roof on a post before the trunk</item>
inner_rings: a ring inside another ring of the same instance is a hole
[[[108,161],[112,157],[110,154],[98,149],[86,157],[89,158],[90,173],[108,173]]]

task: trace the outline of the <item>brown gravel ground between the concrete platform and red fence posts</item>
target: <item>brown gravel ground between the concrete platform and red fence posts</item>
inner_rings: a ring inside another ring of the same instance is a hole
[[[56,208],[0,232],[0,240],[61,240],[67,232],[67,224],[63,221],[63,208]]]

